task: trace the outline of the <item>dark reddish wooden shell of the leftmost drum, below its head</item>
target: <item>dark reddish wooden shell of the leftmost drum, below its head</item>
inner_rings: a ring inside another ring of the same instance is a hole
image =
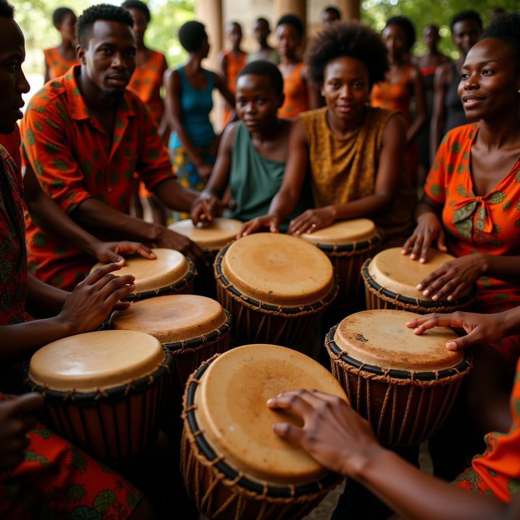
[[[89,334],[107,333],[112,332]],[[28,373],[25,388],[43,395],[41,421],[53,432],[99,461],[123,462],[145,452],[157,439],[171,366],[172,356],[167,354],[145,376],[81,392],[50,389],[33,381]]]

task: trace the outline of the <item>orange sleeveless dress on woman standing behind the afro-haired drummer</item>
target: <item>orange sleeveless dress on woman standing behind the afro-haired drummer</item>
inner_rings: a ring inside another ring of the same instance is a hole
[[[410,72],[412,66],[409,65],[401,79],[397,83],[388,83],[386,81],[376,83],[372,87],[370,95],[370,105],[372,107],[384,108],[386,110],[398,110],[405,118],[406,128],[412,125],[412,116],[410,113],[410,101],[412,99],[412,91],[409,85]],[[410,179],[415,184],[419,175],[419,152],[417,142],[410,142],[405,150],[405,169]]]

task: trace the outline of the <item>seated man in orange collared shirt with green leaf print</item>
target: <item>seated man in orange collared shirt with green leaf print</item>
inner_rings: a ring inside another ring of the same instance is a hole
[[[133,172],[167,206],[188,211],[197,193],[172,177],[144,103],[126,86],[136,66],[133,19],[110,5],[85,10],[77,22],[80,65],[47,83],[32,98],[22,123],[27,164],[44,191],[77,223],[103,237],[137,239],[177,249],[205,262],[186,237],[126,213]],[[68,241],[27,222],[34,275],[72,289],[92,259]]]

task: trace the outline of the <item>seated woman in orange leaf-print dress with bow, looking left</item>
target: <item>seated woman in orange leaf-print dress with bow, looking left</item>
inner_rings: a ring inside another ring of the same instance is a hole
[[[467,54],[459,96],[466,117],[475,122],[444,137],[426,177],[417,227],[402,251],[411,248],[412,259],[426,262],[436,242],[456,256],[418,289],[433,300],[450,301],[476,282],[475,310],[482,313],[520,305],[514,256],[520,253],[519,23],[518,14],[497,18]],[[511,374],[520,336],[492,346]]]

